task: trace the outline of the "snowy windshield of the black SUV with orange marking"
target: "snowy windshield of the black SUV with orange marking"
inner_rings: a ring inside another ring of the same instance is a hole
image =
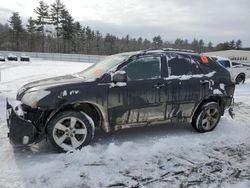
[[[88,80],[95,80],[96,78],[101,77],[103,74],[109,72],[112,68],[125,61],[128,57],[128,54],[117,54],[108,56],[99,63],[96,63],[85,69],[84,71],[77,73],[77,76]]]

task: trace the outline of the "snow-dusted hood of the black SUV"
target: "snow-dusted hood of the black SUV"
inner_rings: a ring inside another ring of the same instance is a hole
[[[21,98],[27,91],[36,91],[42,89],[46,90],[47,88],[54,86],[79,83],[84,81],[86,80],[84,80],[83,78],[76,77],[74,75],[65,75],[65,76],[52,77],[43,80],[38,80],[35,82],[30,82],[18,90],[16,99],[21,100]]]

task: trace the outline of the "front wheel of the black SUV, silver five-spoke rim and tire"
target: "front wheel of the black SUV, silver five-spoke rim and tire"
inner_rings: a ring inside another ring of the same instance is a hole
[[[91,142],[94,135],[92,119],[77,111],[57,114],[46,130],[51,144],[60,151],[81,149]]]

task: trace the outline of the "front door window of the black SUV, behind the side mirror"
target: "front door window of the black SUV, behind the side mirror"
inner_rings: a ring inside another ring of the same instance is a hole
[[[128,80],[148,80],[161,77],[160,57],[142,57],[130,62],[122,70],[127,73]]]

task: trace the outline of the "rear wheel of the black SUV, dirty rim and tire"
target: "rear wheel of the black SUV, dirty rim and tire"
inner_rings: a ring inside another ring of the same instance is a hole
[[[200,132],[210,132],[215,129],[221,118],[221,109],[217,102],[207,102],[195,112],[192,120],[193,128]]]

